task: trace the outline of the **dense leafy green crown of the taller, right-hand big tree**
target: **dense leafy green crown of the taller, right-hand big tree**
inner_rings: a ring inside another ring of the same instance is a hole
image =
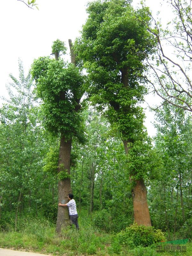
[[[145,9],[134,11],[125,1],[96,1],[87,12],[82,37],[76,41],[79,59],[92,81],[87,90],[123,137],[136,138],[144,118],[138,103],[146,93],[140,83],[145,81],[142,61],[154,45],[143,25],[150,18]]]

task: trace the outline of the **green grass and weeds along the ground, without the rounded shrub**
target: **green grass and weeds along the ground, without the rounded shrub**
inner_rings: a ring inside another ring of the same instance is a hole
[[[96,255],[96,256],[191,256],[192,243],[186,244],[187,252],[158,253],[156,246],[134,249],[122,247],[109,234],[95,228],[84,215],[79,218],[80,230],[63,229],[60,236],[55,233],[55,226],[45,219],[23,218],[18,222],[18,232],[12,229],[0,233],[0,247],[52,255]],[[182,246],[182,245],[181,245]]]

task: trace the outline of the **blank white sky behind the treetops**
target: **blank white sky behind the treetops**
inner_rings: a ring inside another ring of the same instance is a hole
[[[91,0],[92,1],[92,0]],[[26,0],[27,2],[27,0]],[[0,58],[0,96],[7,96],[5,84],[9,74],[18,76],[18,58],[23,61],[26,71],[35,58],[51,54],[51,45],[59,38],[66,42],[79,36],[82,24],[86,21],[85,6],[87,0],[36,0],[39,11],[28,8],[17,0],[1,0],[1,58]],[[137,6],[140,1],[133,0]],[[159,0],[146,0],[146,5],[155,14],[160,7]],[[169,16],[164,8],[164,17]],[[150,105],[156,104],[157,97],[149,96]],[[150,124],[153,114],[146,111],[145,125],[150,136],[155,135],[155,129]]]

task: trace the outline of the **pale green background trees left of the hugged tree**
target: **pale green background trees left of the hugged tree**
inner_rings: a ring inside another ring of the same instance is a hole
[[[16,211],[21,214],[25,209],[36,215],[44,202],[57,200],[52,194],[52,189],[57,191],[54,178],[42,172],[42,159],[55,139],[42,128],[32,79],[30,73],[25,76],[20,60],[19,78],[10,78],[9,100],[0,108],[0,209],[4,230],[14,227]]]

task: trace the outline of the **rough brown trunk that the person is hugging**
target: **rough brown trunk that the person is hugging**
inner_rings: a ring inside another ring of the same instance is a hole
[[[66,170],[70,174],[71,143],[72,143],[71,140],[66,141],[65,137],[61,136],[60,149],[59,149],[58,172],[61,171],[60,164],[62,164],[64,170]],[[63,180],[62,184],[59,180],[58,192],[59,192],[59,202],[61,204],[68,203],[68,194],[71,193],[70,179]],[[58,207],[57,223],[56,223],[57,233],[60,233],[62,227],[66,227],[69,225],[70,225],[70,219],[69,219],[68,207],[61,207],[61,206]]]

